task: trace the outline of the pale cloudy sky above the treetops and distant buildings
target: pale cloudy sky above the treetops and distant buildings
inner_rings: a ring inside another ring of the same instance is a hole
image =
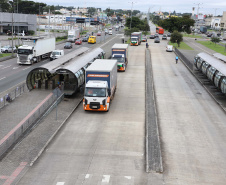
[[[171,11],[176,12],[192,12],[192,7],[195,7],[195,13],[199,4],[199,13],[207,13],[222,15],[226,11],[226,0],[35,0],[36,2],[43,2],[48,5],[62,5],[74,7],[96,7],[106,9],[131,9],[133,2],[133,9],[142,12],[148,12],[150,8],[153,11]]]

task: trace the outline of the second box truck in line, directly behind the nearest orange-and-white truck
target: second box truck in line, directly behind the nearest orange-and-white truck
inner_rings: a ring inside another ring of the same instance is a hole
[[[117,60],[118,71],[126,71],[128,65],[128,44],[114,44],[111,59]]]

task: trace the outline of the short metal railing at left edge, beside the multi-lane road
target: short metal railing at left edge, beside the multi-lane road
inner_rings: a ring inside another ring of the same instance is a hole
[[[4,96],[0,97],[0,110],[8,105],[11,101],[15,100],[18,96],[20,96],[22,93],[27,92],[28,88],[27,85],[24,83],[15,89],[11,90]]]

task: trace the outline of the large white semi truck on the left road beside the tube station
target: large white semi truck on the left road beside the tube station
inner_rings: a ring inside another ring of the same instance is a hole
[[[55,37],[26,38],[26,40],[23,40],[23,45],[18,47],[17,63],[33,64],[40,62],[43,58],[49,58],[52,51],[55,50],[55,45]]]

